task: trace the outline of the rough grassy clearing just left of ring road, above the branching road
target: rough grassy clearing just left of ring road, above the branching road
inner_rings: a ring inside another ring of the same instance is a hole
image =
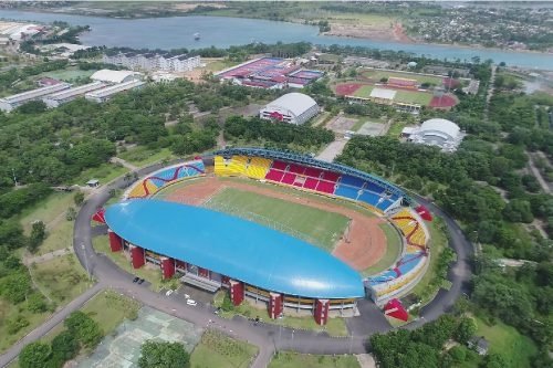
[[[88,287],[88,276],[74,254],[30,266],[39,288],[58,304],[66,304]]]

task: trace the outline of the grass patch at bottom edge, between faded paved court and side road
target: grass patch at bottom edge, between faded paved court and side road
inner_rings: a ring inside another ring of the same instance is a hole
[[[190,356],[191,368],[247,368],[258,354],[258,348],[208,329]]]

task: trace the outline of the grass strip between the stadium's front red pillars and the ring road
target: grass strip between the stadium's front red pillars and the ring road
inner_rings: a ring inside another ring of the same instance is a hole
[[[222,299],[225,298],[226,292],[219,292],[213,298],[215,306],[221,306]],[[273,325],[281,325],[284,327],[296,328],[296,329],[309,329],[315,332],[326,332],[331,336],[347,336],[347,326],[344,322],[344,318],[328,318],[326,325],[321,327],[315,323],[313,316],[305,317],[293,317],[286,316],[279,319],[269,318],[269,313],[267,312],[267,306],[263,304],[259,304],[257,306],[250,304],[248,301],[234,307],[234,309],[230,312],[221,312],[220,316],[223,318],[232,318],[236,315],[240,315],[247,318],[260,317],[263,322]]]

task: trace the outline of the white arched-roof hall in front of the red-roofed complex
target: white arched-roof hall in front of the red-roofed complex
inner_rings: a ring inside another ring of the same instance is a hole
[[[259,112],[259,117],[301,125],[319,114],[316,102],[302,93],[288,93],[269,103]]]

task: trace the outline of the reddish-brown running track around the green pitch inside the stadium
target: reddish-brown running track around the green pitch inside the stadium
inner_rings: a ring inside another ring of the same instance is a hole
[[[209,200],[215,193],[225,188],[251,191],[258,194],[281,199],[284,201],[309,206],[320,210],[340,213],[351,219],[346,233],[336,244],[333,255],[344,261],[357,271],[366,270],[376,264],[386,252],[386,235],[378,227],[384,220],[369,218],[362,213],[342,207],[340,204],[327,203],[323,200],[291,196],[272,190],[271,186],[260,188],[244,182],[223,181],[217,177],[209,177],[189,186],[177,188],[166,197],[166,200],[200,206]]]

